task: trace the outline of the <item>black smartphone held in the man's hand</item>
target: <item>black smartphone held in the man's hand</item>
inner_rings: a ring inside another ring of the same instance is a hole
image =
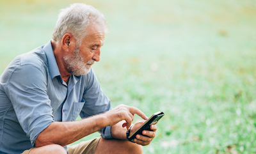
[[[136,131],[130,134],[129,137],[127,137],[128,140],[133,141],[137,134],[142,134],[143,130],[150,130],[150,125],[156,124],[157,121],[159,121],[159,119],[161,119],[163,116],[163,112],[159,111],[154,113],[152,116],[150,116],[150,118],[147,119],[147,121],[145,121],[145,123],[141,125],[141,127],[139,127]]]

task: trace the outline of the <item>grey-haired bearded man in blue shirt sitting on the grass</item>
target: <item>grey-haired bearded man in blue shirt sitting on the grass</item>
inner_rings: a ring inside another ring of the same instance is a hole
[[[142,153],[156,125],[129,142],[134,114],[147,117],[136,107],[111,109],[91,68],[106,31],[102,13],[72,4],[61,10],[51,41],[13,59],[0,77],[0,153]],[[67,147],[97,131],[101,137]]]

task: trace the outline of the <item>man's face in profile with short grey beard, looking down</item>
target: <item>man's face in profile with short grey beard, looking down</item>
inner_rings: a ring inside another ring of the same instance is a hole
[[[105,33],[103,27],[90,25],[87,27],[88,35],[80,47],[76,46],[74,53],[64,56],[68,72],[73,75],[84,75],[90,72],[95,61],[100,60],[100,47],[104,44]]]

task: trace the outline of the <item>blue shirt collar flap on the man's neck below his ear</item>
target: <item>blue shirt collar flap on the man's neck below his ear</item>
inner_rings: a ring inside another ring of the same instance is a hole
[[[60,70],[58,68],[55,56],[53,54],[51,40],[44,45],[43,50],[46,54],[51,79],[53,79],[54,77],[60,76]]]

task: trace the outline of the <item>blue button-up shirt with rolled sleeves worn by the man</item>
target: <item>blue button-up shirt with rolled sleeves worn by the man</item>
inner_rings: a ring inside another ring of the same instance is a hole
[[[17,56],[0,77],[0,153],[22,153],[54,121],[75,121],[109,111],[111,102],[93,69],[61,79],[51,41]],[[111,138],[111,127],[102,137]],[[66,147],[65,147],[66,148]]]

